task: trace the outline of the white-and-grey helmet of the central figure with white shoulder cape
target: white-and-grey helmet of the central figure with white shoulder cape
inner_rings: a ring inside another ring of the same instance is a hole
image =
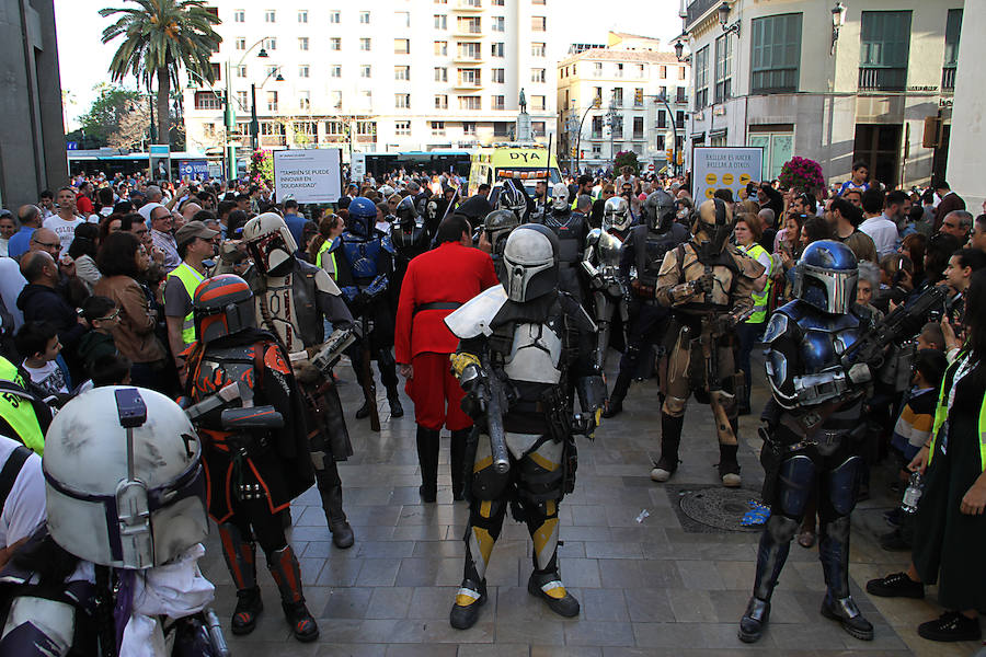
[[[558,288],[558,237],[540,223],[511,231],[503,247],[506,291],[512,301],[530,301]]]

